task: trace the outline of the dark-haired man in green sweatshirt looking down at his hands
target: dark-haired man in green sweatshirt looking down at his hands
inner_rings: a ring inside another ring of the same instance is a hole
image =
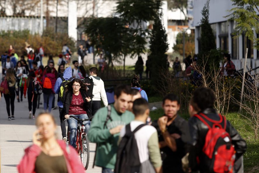
[[[134,119],[134,115],[126,110],[131,101],[129,86],[117,86],[114,90],[114,100],[114,105],[108,105],[95,113],[88,133],[89,140],[97,143],[95,165],[102,167],[102,173],[113,172],[119,133],[124,125]]]

